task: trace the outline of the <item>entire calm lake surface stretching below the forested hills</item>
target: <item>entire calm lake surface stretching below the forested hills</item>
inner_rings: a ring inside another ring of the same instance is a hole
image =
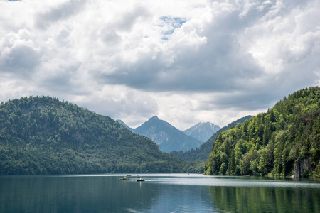
[[[320,212],[320,180],[122,176],[2,176],[0,212]]]

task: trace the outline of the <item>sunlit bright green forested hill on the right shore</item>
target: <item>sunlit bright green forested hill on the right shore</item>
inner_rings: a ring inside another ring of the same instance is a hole
[[[218,135],[207,175],[320,176],[320,88],[302,89]]]

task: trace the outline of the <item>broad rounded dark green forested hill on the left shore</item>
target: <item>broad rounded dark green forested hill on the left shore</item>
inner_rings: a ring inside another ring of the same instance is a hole
[[[0,104],[0,175],[179,173],[185,165],[110,117],[57,98]]]

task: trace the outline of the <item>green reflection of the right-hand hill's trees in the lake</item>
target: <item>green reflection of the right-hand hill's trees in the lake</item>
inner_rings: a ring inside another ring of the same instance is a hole
[[[320,212],[320,190],[285,187],[210,187],[222,212]]]

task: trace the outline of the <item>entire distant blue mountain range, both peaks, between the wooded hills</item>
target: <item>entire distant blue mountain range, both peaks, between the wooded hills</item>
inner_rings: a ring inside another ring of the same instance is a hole
[[[185,133],[157,116],[153,116],[136,129],[130,128],[123,121],[118,121],[132,132],[151,138],[152,141],[159,145],[160,150],[166,153],[171,151],[190,151],[198,148],[206,141],[204,138],[210,138],[216,129],[220,129],[218,126],[207,122],[192,126]]]

